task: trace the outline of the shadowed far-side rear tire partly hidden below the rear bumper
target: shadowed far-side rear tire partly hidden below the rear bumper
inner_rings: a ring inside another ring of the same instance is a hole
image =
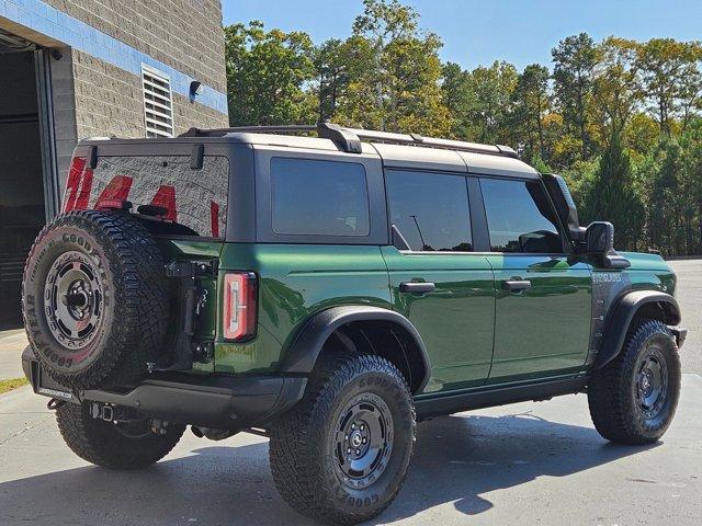
[[[90,404],[64,403],[56,410],[56,421],[64,441],[83,460],[113,469],[146,468],[168,455],[178,444],[184,425],[170,424],[166,434],[139,425],[139,433],[120,431],[112,422],[93,419]],[[118,424],[123,425],[123,424]]]

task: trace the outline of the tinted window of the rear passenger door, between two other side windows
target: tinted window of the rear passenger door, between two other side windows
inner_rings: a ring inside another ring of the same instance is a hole
[[[473,250],[463,175],[388,171],[386,181],[390,222],[412,250]]]

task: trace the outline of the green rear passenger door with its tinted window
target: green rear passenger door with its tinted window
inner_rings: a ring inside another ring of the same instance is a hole
[[[477,180],[386,170],[385,181],[390,222],[407,244],[385,247],[383,255],[394,307],[415,324],[429,353],[424,392],[483,385],[492,355],[495,289],[486,256],[474,253]]]

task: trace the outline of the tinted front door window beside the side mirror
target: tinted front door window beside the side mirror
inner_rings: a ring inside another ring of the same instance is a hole
[[[480,181],[496,252],[561,253],[553,207],[536,181]]]

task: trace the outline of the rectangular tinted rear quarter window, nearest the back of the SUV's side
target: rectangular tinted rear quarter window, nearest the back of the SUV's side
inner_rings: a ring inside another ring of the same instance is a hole
[[[273,159],[271,201],[275,233],[370,233],[369,192],[363,164]]]

